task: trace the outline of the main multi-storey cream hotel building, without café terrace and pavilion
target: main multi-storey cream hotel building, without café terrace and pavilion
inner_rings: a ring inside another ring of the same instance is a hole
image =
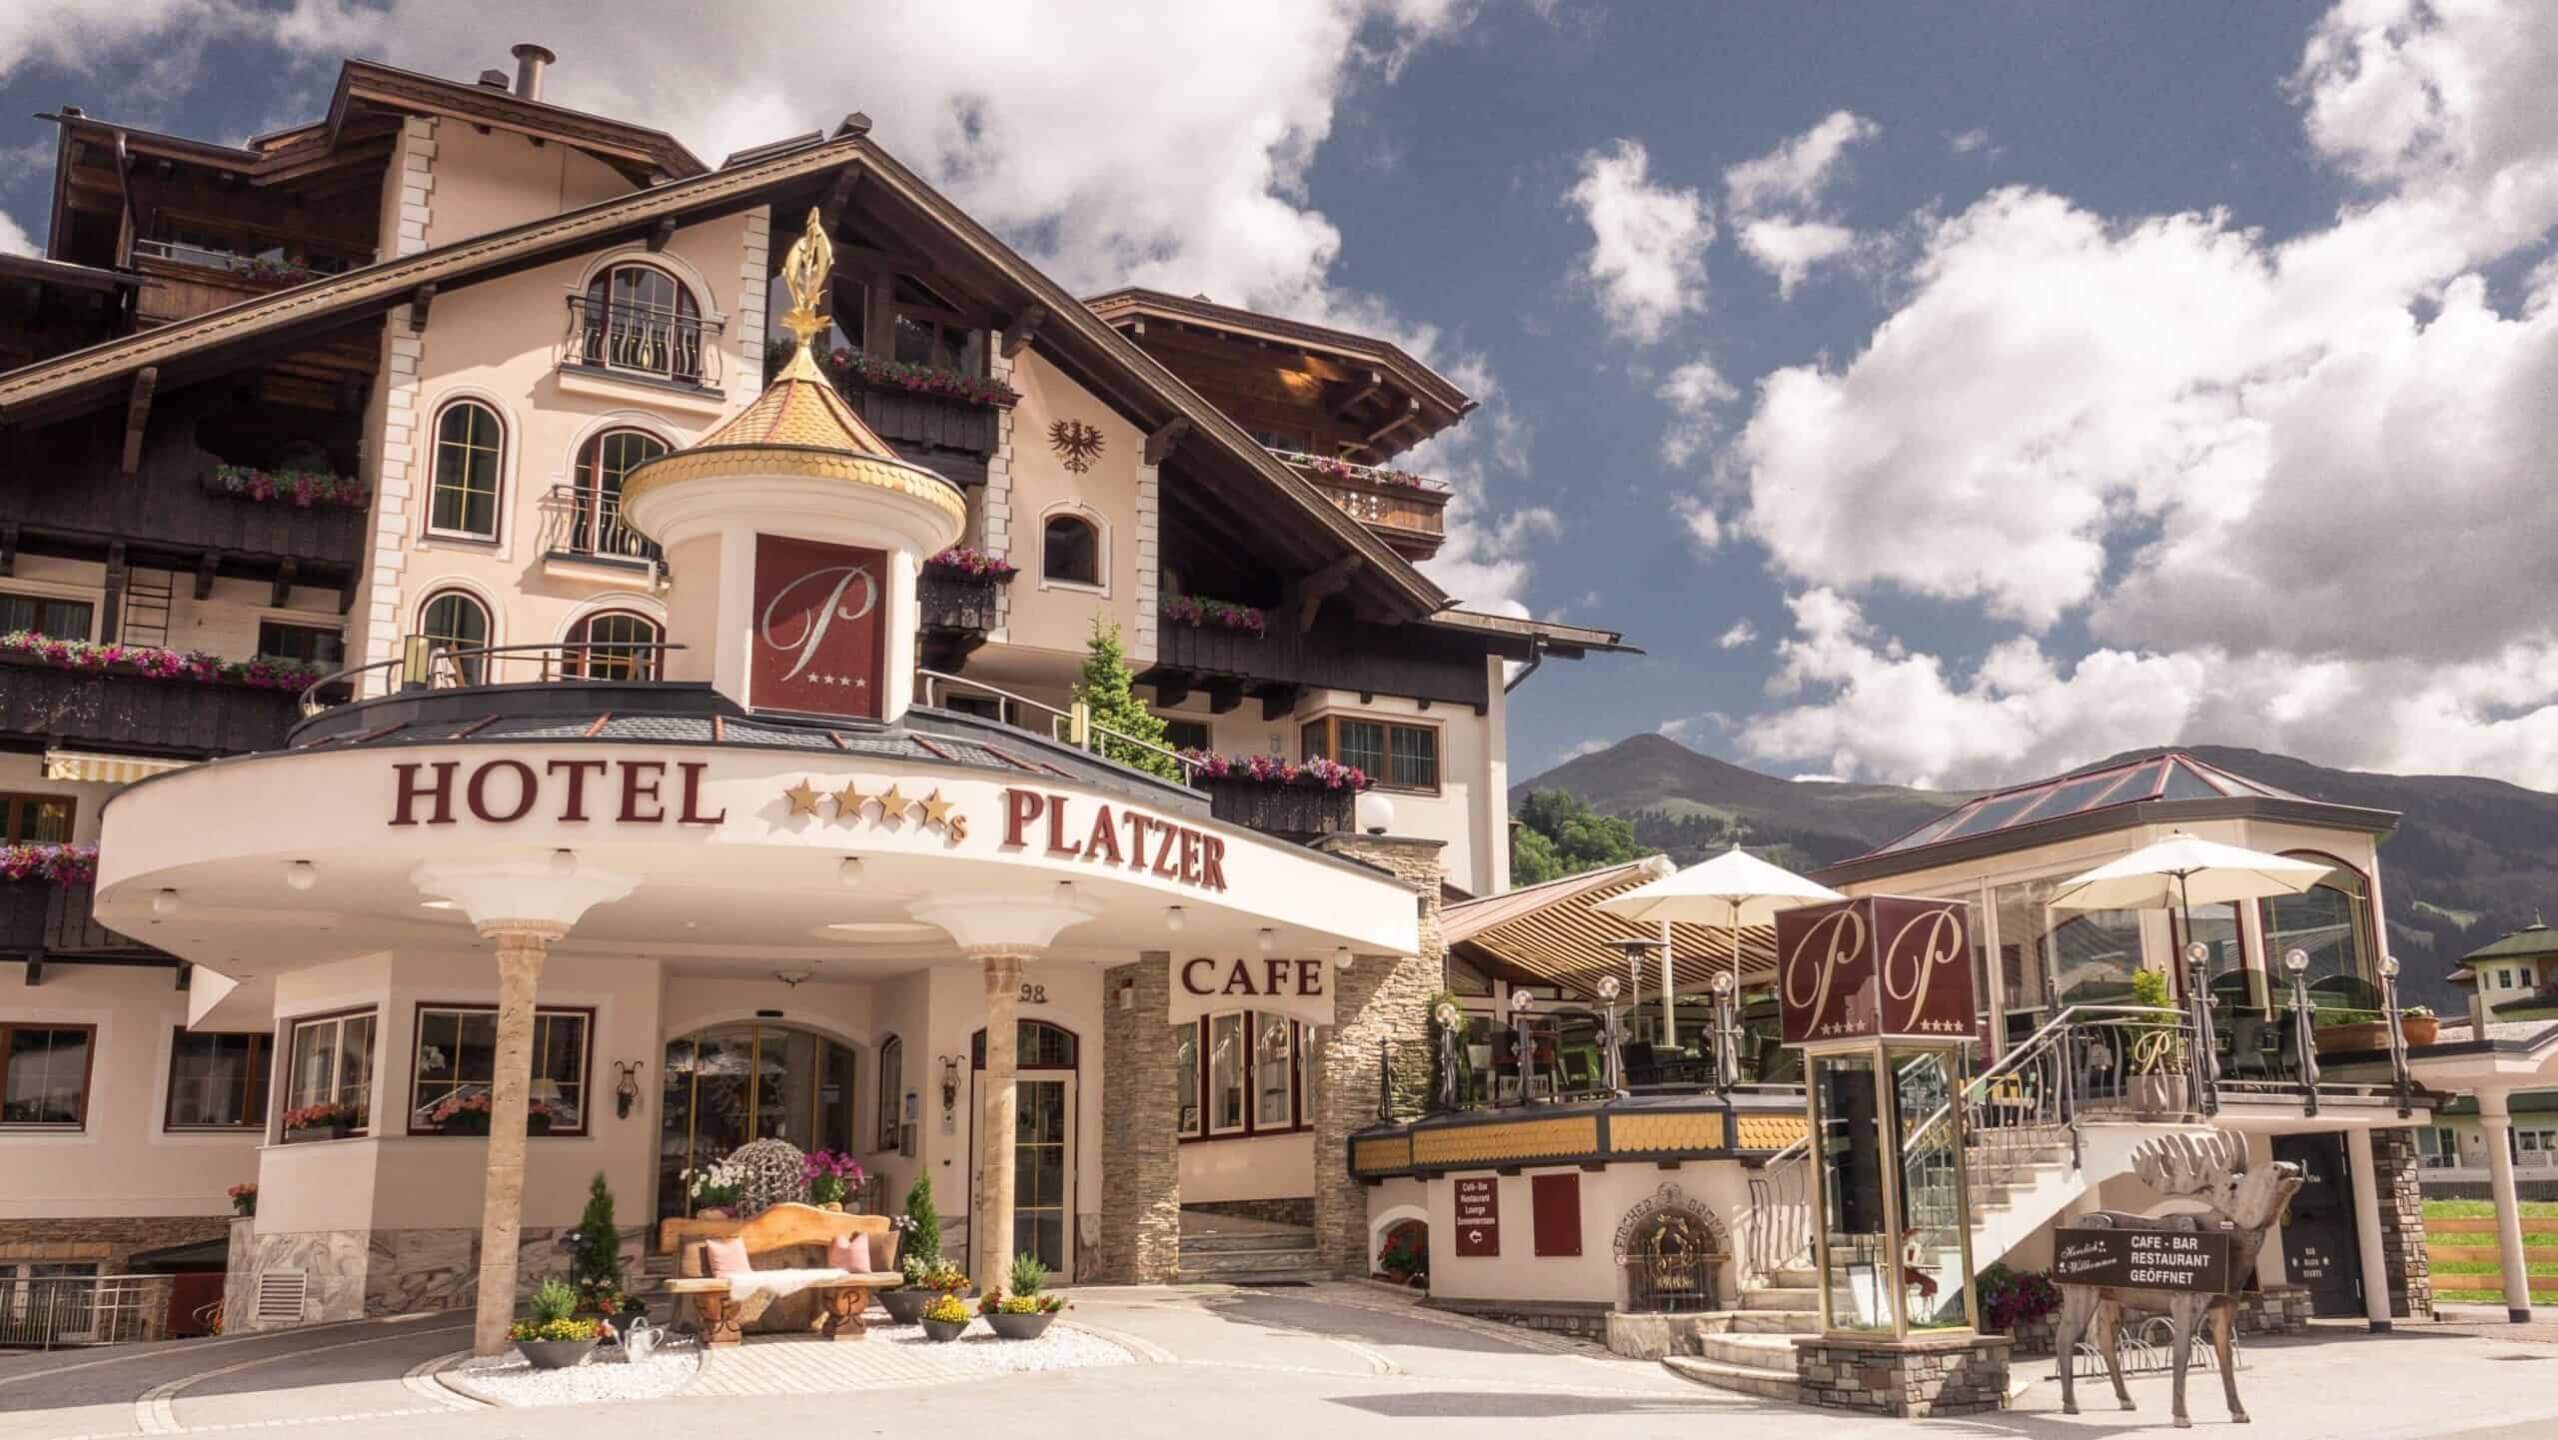
[[[43,867],[5,885],[0,1279],[174,1258],[233,1330],[468,1304],[524,936],[524,1284],[593,1174],[637,1256],[757,1138],[870,1205],[931,1177],[954,1256],[993,1138],[1072,1279],[1172,1276],[1184,1205],[1358,1205],[1430,916],[1507,888],[1507,688],[1619,647],[1415,568],[1450,496],[1392,460],[1473,402],[1381,340],[1064,294],[862,115],[711,166],[517,59],[350,61],[246,148],[54,115],[49,253],[0,261],[0,790]],[[757,535],[867,555],[857,665],[749,673]],[[1097,629],[1228,765],[1090,726]],[[496,926],[453,865],[593,908]],[[1174,1026],[1179,962],[1215,995]]]

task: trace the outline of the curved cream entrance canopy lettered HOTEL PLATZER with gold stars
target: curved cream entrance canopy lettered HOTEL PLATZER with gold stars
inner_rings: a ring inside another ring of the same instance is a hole
[[[629,880],[558,944],[693,972],[900,974],[969,954],[969,916],[1059,903],[1085,918],[1049,959],[1259,964],[1420,944],[1402,882],[1205,818],[1172,785],[929,755],[957,755],[954,742],[906,757],[739,744],[744,726],[719,726],[714,744],[624,742],[601,719],[593,737],[578,729],[358,734],[159,775],[107,806],[97,916],[243,985],[478,946],[432,885],[491,862],[530,870],[532,888]]]

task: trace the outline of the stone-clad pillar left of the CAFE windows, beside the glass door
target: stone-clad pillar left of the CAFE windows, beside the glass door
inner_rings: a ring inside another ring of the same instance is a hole
[[[1102,972],[1102,1215],[1077,1279],[1166,1284],[1182,1269],[1172,954]]]

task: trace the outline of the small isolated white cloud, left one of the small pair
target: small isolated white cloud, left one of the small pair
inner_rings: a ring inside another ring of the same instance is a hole
[[[1599,312],[1617,335],[1652,343],[1681,315],[1706,307],[1706,246],[1714,217],[1691,187],[1652,184],[1652,156],[1637,141],[1581,156],[1581,182],[1565,200],[1594,243],[1583,274],[1599,286]]]

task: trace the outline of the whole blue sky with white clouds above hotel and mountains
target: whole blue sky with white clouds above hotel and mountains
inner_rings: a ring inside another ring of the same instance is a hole
[[[1522,688],[1517,775],[1663,729],[1780,775],[2187,739],[2558,788],[2553,5],[969,15],[46,0],[0,115],[238,138],[340,54],[540,38],[553,97],[711,159],[867,110],[1079,289],[1389,333],[1486,399],[1422,455],[1443,583],[1650,650]],[[8,125],[41,240],[51,130]]]

